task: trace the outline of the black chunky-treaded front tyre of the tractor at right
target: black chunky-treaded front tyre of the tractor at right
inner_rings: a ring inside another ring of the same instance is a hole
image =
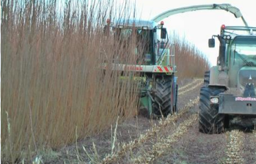
[[[210,97],[219,95],[224,89],[203,86],[200,90],[199,130],[201,133],[223,133],[224,115],[219,114],[219,105],[211,105]]]

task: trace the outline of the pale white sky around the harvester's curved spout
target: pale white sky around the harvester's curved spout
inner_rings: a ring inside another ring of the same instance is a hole
[[[256,1],[252,0],[136,0],[136,8],[141,19],[150,20],[161,12],[180,7],[199,4],[232,4],[240,9],[249,26],[256,26]],[[208,39],[213,34],[219,34],[220,27],[244,26],[241,18],[235,18],[231,12],[224,10],[200,10],[196,12],[180,13],[164,19],[164,26],[169,32],[175,31],[180,37],[194,44],[205,56],[211,65],[216,65],[219,55],[219,41],[216,47],[208,48]]]

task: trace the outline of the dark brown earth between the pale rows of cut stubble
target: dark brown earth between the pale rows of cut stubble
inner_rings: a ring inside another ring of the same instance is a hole
[[[181,81],[180,86],[186,86],[189,83],[193,83],[193,80]],[[190,100],[196,99],[199,94],[200,86],[180,95],[178,97],[178,107],[183,108]],[[156,143],[161,143],[162,138],[164,140],[164,138],[172,135],[181,123],[189,119],[192,114],[198,113],[198,111],[198,105],[195,105],[176,122],[162,128],[160,132],[149,138],[145,143],[125,152],[122,157],[112,160],[111,163],[135,163],[133,159],[150,152],[153,146],[156,146]],[[150,129],[153,124],[158,124],[158,122],[157,119],[148,119],[145,116],[145,111],[141,111],[138,116],[119,123],[114,151],[121,149],[118,143],[128,143],[139,138],[139,135],[146,133],[146,130]],[[111,154],[111,138],[113,138],[111,132],[113,135],[114,127],[113,124],[112,130],[109,129],[98,135],[84,138],[60,150],[45,152],[42,159],[43,163],[100,163],[106,157],[106,154]],[[233,130],[234,127],[231,126],[227,131]],[[241,154],[244,163],[256,163],[256,133],[240,127],[238,129],[242,132],[246,131],[242,135],[241,149],[238,154]],[[229,135],[227,133],[219,135],[199,133],[197,120],[191,127],[188,127],[186,133],[180,135],[178,141],[163,149],[164,152],[161,155],[154,154],[156,157],[150,163],[227,163],[227,154],[230,153],[227,148],[228,141]],[[141,163],[145,163],[145,161],[141,161]]]

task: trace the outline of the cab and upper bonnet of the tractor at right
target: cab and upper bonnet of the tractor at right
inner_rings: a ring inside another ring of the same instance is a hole
[[[242,95],[247,82],[256,85],[256,29],[222,25],[220,35],[213,37],[218,37],[220,48],[218,68],[213,67],[212,74],[218,71],[222,77],[212,75],[210,85],[225,86]],[[214,47],[214,39],[208,45]]]

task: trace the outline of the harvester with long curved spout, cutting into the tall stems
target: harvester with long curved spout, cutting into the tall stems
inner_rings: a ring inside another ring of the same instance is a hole
[[[161,20],[170,15],[197,10],[225,10],[236,18],[241,17],[238,8],[230,4],[208,4],[169,10],[152,20],[117,20],[114,24],[107,20],[105,31],[114,31],[118,36],[136,34],[136,38],[144,38],[143,42],[147,42],[145,51],[137,54],[142,56],[140,64],[113,63],[112,70],[140,72],[139,78],[145,79],[139,88],[140,105],[147,108],[149,116],[167,116],[178,111],[175,45],[169,42],[167,29]]]

